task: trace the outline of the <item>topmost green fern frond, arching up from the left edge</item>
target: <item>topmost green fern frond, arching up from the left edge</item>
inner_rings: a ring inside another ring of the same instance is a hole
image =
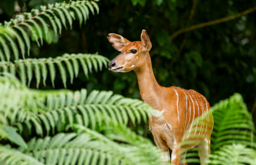
[[[3,52],[6,58],[6,60],[1,58],[1,61],[10,61],[11,51],[9,47],[11,47],[15,59],[19,59],[19,50],[17,44],[15,44],[15,38],[18,40],[19,48],[24,59],[24,41],[26,43],[28,55],[30,53],[30,40],[28,34],[31,33],[38,46],[40,46],[43,45],[43,34],[48,33],[48,24],[52,25],[56,35],[58,33],[57,27],[59,28],[59,34],[61,34],[61,23],[65,29],[67,29],[67,20],[69,22],[70,29],[72,29],[72,22],[76,15],[81,27],[82,22],[85,22],[89,18],[89,10],[93,15],[95,14],[94,8],[97,13],[99,11],[98,4],[94,1],[88,0],[71,1],[70,3],[55,3],[49,4],[48,6],[41,6],[40,8],[40,10],[32,9],[30,13],[16,15],[15,19],[5,22],[4,25],[0,24],[0,45],[2,46],[2,48],[0,47],[0,51],[4,50]],[[43,28],[41,28],[41,26]],[[24,27],[27,28],[27,30],[25,30]],[[14,30],[15,28],[20,31],[21,35]],[[45,37],[47,40],[47,35]],[[38,42],[39,39],[41,44]]]

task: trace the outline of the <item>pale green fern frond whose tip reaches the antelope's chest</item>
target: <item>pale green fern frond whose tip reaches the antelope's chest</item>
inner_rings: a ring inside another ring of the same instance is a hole
[[[41,136],[44,129],[46,134],[56,128],[60,132],[64,126],[76,123],[95,130],[109,125],[109,122],[127,125],[130,118],[135,125],[135,121],[140,123],[141,118],[146,122],[152,109],[143,101],[113,95],[113,92],[93,91],[87,96],[85,89],[76,92],[35,91],[19,83],[11,84],[12,79],[0,80],[0,118],[4,125],[17,126],[20,132],[24,129],[22,123],[28,128],[35,127]],[[58,127],[60,124],[62,127]]]

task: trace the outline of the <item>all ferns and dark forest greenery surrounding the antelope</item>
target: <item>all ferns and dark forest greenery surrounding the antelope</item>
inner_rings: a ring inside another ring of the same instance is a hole
[[[154,110],[127,98],[140,98],[135,74],[104,69],[117,55],[108,33],[134,41],[147,29],[160,84],[193,88],[211,105],[242,94],[212,106],[209,164],[254,165],[256,2],[241,3],[2,0],[0,164],[164,164],[147,138]]]

